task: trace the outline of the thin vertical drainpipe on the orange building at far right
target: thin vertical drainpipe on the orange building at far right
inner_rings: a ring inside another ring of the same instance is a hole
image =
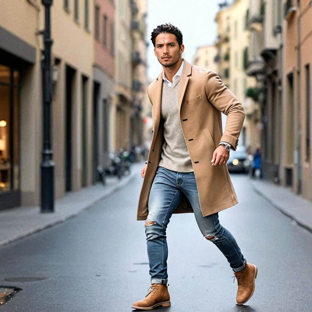
[[[301,10],[300,10],[300,1],[297,0],[298,7],[298,21],[297,21],[297,37],[298,37],[298,45],[297,45],[297,101],[298,101],[298,129],[297,129],[297,150],[296,150],[296,160],[297,160],[297,188],[296,193],[301,194],[302,190],[302,164],[301,164]]]

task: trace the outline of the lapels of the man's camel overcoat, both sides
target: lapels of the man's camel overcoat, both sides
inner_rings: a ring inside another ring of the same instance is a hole
[[[188,61],[186,61],[184,58],[183,58],[183,62],[184,62],[184,65],[183,65],[182,75],[180,78],[179,95],[178,95],[179,115],[180,115],[181,104],[182,104],[183,96],[185,93],[185,89],[188,84],[188,76],[190,76],[192,72],[192,65]],[[154,119],[153,120],[154,134],[157,134],[159,122],[160,122],[162,90],[163,90],[163,70],[156,78],[154,90],[153,90],[154,100],[153,100],[152,112],[154,115],[154,118],[153,118]]]

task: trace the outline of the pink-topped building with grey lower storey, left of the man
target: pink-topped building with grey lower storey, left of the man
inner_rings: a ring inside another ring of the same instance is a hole
[[[113,150],[115,123],[115,4],[95,0],[93,64],[93,181],[100,176],[97,166],[107,167]]]

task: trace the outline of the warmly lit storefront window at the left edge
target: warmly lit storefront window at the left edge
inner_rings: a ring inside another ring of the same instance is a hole
[[[19,189],[19,72],[0,65],[0,192]]]

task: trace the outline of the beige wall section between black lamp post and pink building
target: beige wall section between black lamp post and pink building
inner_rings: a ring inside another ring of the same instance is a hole
[[[56,93],[53,108],[53,144],[58,145],[54,149],[55,189],[56,198],[65,193],[65,138],[66,138],[66,66],[70,66],[76,72],[72,84],[72,190],[81,187],[82,174],[82,75],[88,78],[87,88],[87,133],[86,137],[91,138],[92,127],[92,66],[94,62],[94,3],[89,1],[89,27],[85,29],[84,12],[85,2],[79,1],[79,18],[74,17],[74,2],[69,1],[69,10],[65,10],[62,0],[55,0],[51,8],[51,36],[54,39],[52,54],[60,60],[59,80],[56,81]],[[43,13],[43,11],[42,11]],[[41,14],[43,23],[43,14]],[[56,118],[56,116],[58,118]],[[87,164],[87,185],[92,183],[92,139],[87,140],[86,146]]]

